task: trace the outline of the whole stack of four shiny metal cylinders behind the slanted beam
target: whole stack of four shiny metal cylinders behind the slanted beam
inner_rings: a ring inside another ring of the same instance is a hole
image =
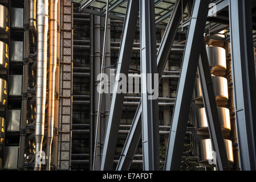
[[[227,159],[230,166],[233,164],[233,147],[229,139],[230,126],[230,112],[228,108],[228,87],[226,75],[226,52],[221,47],[206,47],[208,53],[208,60],[210,71],[212,73],[214,93],[216,94],[216,102],[218,106],[218,115],[220,117],[222,133],[224,135],[224,142],[227,151]],[[200,79],[197,77],[194,88],[194,100],[197,107],[197,135],[201,138],[201,156],[200,166],[214,168],[216,162],[216,153],[213,151],[212,142],[210,140],[208,121],[206,118],[205,107],[202,100],[202,90]],[[215,159],[214,159],[215,158]]]

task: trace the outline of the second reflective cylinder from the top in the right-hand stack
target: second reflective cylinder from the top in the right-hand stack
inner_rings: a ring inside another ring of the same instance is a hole
[[[229,93],[227,88],[227,79],[219,76],[212,76],[214,93],[216,95],[217,105],[223,105],[221,102],[229,100]],[[194,87],[195,100],[202,100],[202,90],[199,78],[196,78]],[[225,104],[224,104],[225,105]]]

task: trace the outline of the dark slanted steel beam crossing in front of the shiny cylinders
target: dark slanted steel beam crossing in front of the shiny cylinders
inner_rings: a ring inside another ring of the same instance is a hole
[[[229,170],[229,162],[221,130],[220,117],[218,115],[216,97],[214,94],[213,81],[209,70],[208,56],[202,39],[201,56],[198,63],[198,73],[201,82],[202,96],[204,100],[206,118],[209,126],[210,138],[213,150],[216,152],[217,169],[220,171]]]

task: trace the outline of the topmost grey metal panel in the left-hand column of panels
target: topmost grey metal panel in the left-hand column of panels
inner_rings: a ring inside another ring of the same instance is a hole
[[[22,8],[11,9],[11,27],[23,28],[24,27],[24,13]]]

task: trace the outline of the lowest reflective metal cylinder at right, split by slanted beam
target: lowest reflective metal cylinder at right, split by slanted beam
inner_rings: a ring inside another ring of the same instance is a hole
[[[227,152],[227,159],[229,163],[234,162],[233,158],[233,147],[231,140],[224,139],[226,152]],[[200,163],[202,166],[211,166],[211,162],[214,162],[214,155],[216,154],[212,148],[212,142],[210,139],[203,139],[201,140],[201,159]]]

